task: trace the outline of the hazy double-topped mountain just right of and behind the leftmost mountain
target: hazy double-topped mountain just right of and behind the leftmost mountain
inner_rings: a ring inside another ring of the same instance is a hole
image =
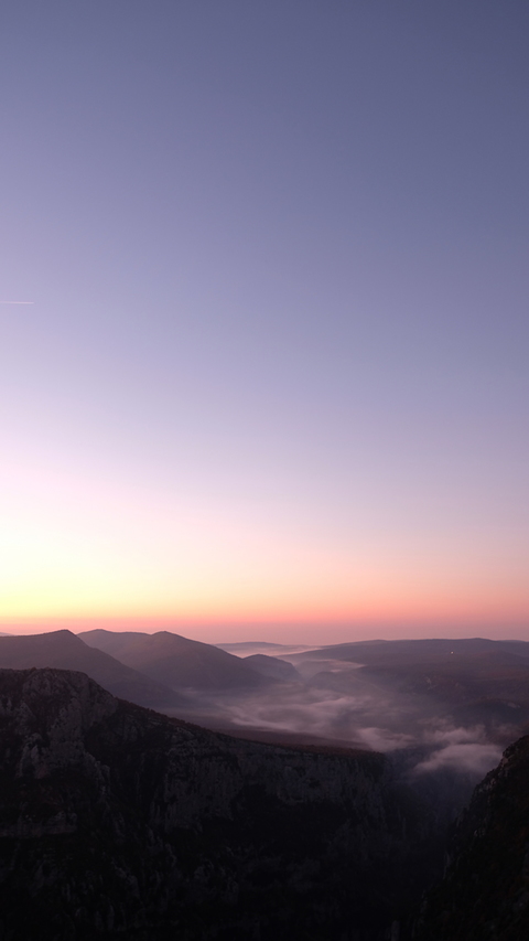
[[[234,689],[266,685],[266,680],[238,656],[170,631],[145,634],[95,630],[78,637],[89,646],[173,688]]]

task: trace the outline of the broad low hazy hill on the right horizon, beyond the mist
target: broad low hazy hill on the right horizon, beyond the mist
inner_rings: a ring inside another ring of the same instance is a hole
[[[443,729],[476,745],[507,744],[529,729],[529,642],[486,638],[358,641],[285,656],[312,687],[391,704],[364,725],[410,733],[432,742]],[[406,723],[400,716],[407,715]],[[438,725],[436,730],[435,725]],[[422,728],[422,731],[421,731]],[[463,742],[461,742],[463,745]],[[456,749],[457,750],[457,749]],[[458,749],[463,753],[463,748]],[[485,752],[484,752],[485,753]],[[450,751],[446,752],[446,756]],[[485,769],[483,769],[484,773]]]

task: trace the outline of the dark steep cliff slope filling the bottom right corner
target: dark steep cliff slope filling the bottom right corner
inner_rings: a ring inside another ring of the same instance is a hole
[[[476,788],[446,873],[423,905],[417,941],[529,938],[529,736]]]

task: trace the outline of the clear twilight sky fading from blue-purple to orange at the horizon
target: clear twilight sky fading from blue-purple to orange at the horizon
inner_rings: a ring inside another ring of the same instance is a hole
[[[528,35],[3,0],[0,630],[529,639]]]

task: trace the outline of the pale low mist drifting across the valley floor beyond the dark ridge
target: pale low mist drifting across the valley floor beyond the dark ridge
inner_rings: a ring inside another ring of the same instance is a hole
[[[236,693],[187,689],[188,717],[239,737],[386,752],[415,789],[435,791],[443,781],[455,809],[529,718],[527,708],[478,688],[474,667],[464,682],[461,675],[452,682],[453,661],[436,667],[438,676],[417,664],[388,670],[344,662],[331,650],[328,656],[281,653],[295,667],[290,682]],[[250,661],[257,665],[258,657]]]

